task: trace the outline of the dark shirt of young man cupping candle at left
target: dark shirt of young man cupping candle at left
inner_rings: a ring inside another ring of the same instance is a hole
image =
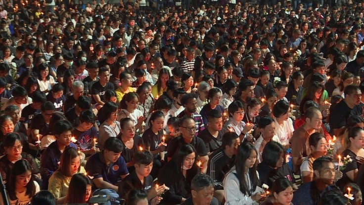
[[[75,148],[77,147],[72,142],[67,148]],[[50,176],[55,172],[61,163],[61,151],[58,149],[57,141],[52,142],[44,151],[41,158],[41,176],[43,179],[42,189],[48,190],[48,180]]]

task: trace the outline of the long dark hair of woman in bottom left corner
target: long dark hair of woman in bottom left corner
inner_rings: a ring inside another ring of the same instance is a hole
[[[24,174],[26,171],[30,171],[32,173],[32,167],[26,159],[20,159],[14,163],[14,166],[11,169],[9,180],[6,183],[7,192],[9,194],[9,198],[12,201],[17,200],[16,197],[16,176]],[[34,184],[33,176],[30,177],[29,182],[26,185],[26,196],[32,198],[36,194],[36,185]],[[6,197],[6,196],[5,196]]]

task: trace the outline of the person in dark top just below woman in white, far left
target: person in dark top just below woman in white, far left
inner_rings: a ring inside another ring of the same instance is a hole
[[[46,94],[42,91],[35,91],[32,99],[33,103],[28,104],[21,112],[20,122],[24,124],[26,129],[32,124],[34,116],[41,113],[41,106],[47,101]]]

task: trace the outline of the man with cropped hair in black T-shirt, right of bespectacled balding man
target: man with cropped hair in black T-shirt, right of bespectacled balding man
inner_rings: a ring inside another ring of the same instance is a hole
[[[211,110],[207,114],[207,122],[209,126],[202,130],[198,137],[204,141],[207,154],[211,154],[222,145],[223,134],[221,130],[223,129],[223,118],[221,113],[216,109]]]

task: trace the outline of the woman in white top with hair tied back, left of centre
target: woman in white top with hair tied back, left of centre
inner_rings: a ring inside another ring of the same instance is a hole
[[[139,103],[139,96],[135,92],[127,93],[120,101],[120,112],[118,113],[117,120],[129,117],[133,120],[134,126],[138,134],[143,133],[143,113],[137,109]]]

